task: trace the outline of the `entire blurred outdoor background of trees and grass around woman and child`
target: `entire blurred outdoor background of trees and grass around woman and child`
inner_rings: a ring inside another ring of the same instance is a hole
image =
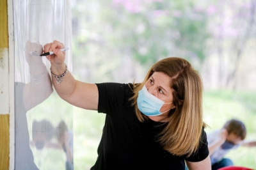
[[[256,0],[74,0],[73,75],[86,82],[140,82],[148,68],[179,56],[201,73],[211,132],[230,118],[256,140]],[[104,114],[74,108],[74,167],[90,169]],[[231,151],[256,168],[256,147]]]

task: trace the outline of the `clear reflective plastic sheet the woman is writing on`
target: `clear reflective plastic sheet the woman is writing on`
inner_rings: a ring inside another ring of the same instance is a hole
[[[72,106],[51,84],[45,43],[62,42],[72,71],[69,0],[13,0],[15,37],[15,169],[73,169]]]

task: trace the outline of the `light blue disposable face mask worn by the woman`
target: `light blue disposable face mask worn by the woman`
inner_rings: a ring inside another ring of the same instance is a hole
[[[139,95],[137,98],[138,109],[146,116],[159,116],[164,112],[170,111],[169,109],[167,111],[160,112],[163,104],[164,101],[155,97],[151,93],[148,93],[148,90],[145,86],[143,86],[143,88],[139,91]],[[172,104],[172,102],[165,104]]]

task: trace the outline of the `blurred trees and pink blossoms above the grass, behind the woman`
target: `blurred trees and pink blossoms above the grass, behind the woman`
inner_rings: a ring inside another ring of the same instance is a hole
[[[72,1],[74,65],[83,66],[74,71],[93,82],[131,81],[159,59],[179,56],[207,77],[207,88],[255,89],[248,84],[256,73],[255,4],[256,0]]]

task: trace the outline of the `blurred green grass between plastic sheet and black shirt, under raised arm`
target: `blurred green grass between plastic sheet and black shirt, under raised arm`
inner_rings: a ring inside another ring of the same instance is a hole
[[[74,108],[74,168],[90,169],[97,159],[105,115]]]

